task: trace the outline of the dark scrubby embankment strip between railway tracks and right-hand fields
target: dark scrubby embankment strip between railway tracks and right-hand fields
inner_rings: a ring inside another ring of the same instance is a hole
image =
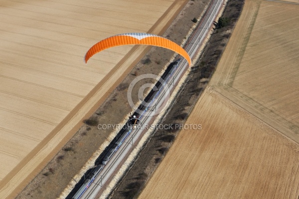
[[[216,69],[218,60],[242,11],[243,3],[243,0],[227,2],[222,16],[215,23],[213,33],[206,43],[202,55],[191,69],[175,101],[160,122],[161,125],[170,124],[174,127],[178,126],[178,128],[157,129],[154,132],[131,169],[110,196],[111,199],[136,198],[146,186],[151,174],[171,147],[179,133],[179,128],[184,126],[194,104]]]

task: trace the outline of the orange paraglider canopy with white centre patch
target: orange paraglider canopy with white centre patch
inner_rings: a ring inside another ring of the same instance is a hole
[[[91,58],[94,54],[107,48],[130,44],[152,45],[167,48],[183,56],[188,61],[189,66],[191,66],[191,59],[182,47],[169,39],[147,33],[124,33],[103,39],[87,51],[84,56],[84,62],[87,63],[89,58]]]

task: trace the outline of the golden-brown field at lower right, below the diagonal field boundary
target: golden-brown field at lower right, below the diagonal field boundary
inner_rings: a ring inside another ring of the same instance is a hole
[[[201,96],[139,199],[297,199],[299,154],[213,90]]]

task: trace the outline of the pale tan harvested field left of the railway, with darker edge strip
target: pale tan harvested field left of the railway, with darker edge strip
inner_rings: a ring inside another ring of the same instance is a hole
[[[0,2],[0,198],[22,190],[146,47],[111,48],[87,66],[86,51],[114,34],[160,34],[184,2]]]

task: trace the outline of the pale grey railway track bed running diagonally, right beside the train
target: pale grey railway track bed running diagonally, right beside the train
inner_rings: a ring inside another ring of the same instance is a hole
[[[218,15],[223,3],[224,0],[212,0],[197,28],[189,37],[184,49],[187,51],[192,61],[195,61],[195,56],[197,55],[200,47],[203,45],[202,42],[212,28],[213,22],[215,21],[215,18]],[[178,82],[185,74],[187,69],[187,61],[185,59],[181,59],[181,61],[177,63],[177,67],[173,71],[171,77],[165,80],[166,84],[161,92],[159,92],[156,98],[150,103],[150,105],[155,105],[150,106],[149,109],[140,114],[140,122],[143,126],[150,126],[153,123],[157,115],[152,113],[161,107],[165,100],[168,100],[169,95],[176,88]],[[103,192],[107,189],[109,183],[115,177],[115,174],[128,159],[131,152],[136,148],[141,138],[147,131],[147,128],[137,128],[132,130],[125,142],[115,152],[107,165],[102,169],[99,175],[97,175],[97,178],[95,178],[94,181],[89,185],[88,189],[84,192],[80,199],[94,199],[97,197],[105,198],[105,196],[102,195]]]

